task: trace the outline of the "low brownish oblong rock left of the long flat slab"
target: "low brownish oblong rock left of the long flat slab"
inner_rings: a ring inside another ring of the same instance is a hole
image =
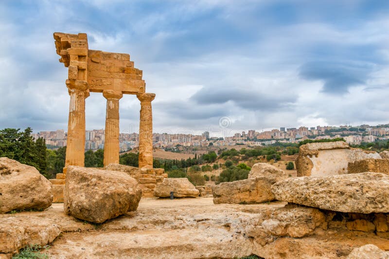
[[[213,203],[264,203],[274,200],[271,185],[277,182],[276,176],[260,176],[212,186]]]

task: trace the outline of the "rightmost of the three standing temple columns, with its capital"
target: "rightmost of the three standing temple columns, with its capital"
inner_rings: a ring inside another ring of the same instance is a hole
[[[153,168],[153,114],[151,101],[155,93],[138,93],[141,101],[141,120],[139,123],[139,167]]]

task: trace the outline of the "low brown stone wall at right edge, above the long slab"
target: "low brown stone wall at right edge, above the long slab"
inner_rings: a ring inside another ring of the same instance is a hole
[[[347,173],[375,172],[389,175],[389,159],[367,158],[350,162]]]

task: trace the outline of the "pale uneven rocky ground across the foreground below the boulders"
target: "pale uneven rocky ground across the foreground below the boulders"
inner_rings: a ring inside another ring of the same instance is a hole
[[[0,258],[47,242],[51,258],[346,258],[366,244],[389,250],[388,232],[351,231],[316,208],[212,198],[142,198],[137,211],[102,224],[65,215],[63,204],[53,203],[41,212],[0,214],[0,243],[5,238]]]

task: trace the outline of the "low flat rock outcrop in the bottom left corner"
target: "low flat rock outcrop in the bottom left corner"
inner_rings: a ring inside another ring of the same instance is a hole
[[[26,245],[46,245],[61,233],[51,219],[9,216],[0,219],[0,255],[17,253]]]

